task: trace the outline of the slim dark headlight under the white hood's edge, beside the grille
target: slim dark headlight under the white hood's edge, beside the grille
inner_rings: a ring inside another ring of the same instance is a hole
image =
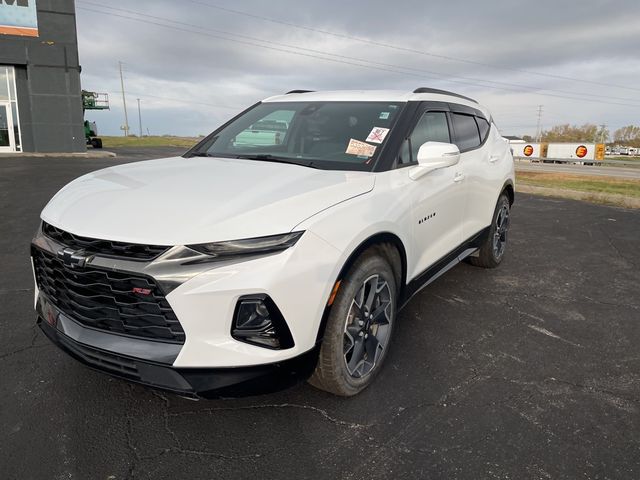
[[[220,259],[241,255],[260,255],[280,252],[294,246],[303,233],[304,232],[291,232],[280,235],[270,235],[268,237],[187,245],[187,247],[197,252]]]

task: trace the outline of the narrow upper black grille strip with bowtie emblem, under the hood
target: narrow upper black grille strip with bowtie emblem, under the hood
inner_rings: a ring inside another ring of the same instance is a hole
[[[130,260],[152,260],[169,249],[169,247],[161,245],[142,245],[140,243],[112,242],[110,240],[79,237],[46,222],[42,223],[42,231],[52,240],[74,250],[84,250],[88,255],[104,255]]]

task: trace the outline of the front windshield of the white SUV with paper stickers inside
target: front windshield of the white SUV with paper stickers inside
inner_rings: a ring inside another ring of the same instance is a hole
[[[261,103],[189,155],[371,170],[403,106],[389,102]]]

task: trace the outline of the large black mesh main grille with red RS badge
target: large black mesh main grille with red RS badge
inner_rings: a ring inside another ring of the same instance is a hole
[[[67,267],[53,254],[35,247],[31,254],[38,288],[74,320],[113,333],[184,343],[184,330],[152,278]]]

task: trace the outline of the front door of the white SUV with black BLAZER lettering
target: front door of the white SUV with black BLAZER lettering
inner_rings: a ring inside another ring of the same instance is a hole
[[[425,104],[400,151],[400,162],[417,163],[420,146],[428,141],[451,143],[446,106]],[[411,167],[409,167],[411,168]],[[407,184],[412,199],[412,257],[409,279],[415,278],[462,242],[465,197],[457,165],[434,170]],[[412,268],[413,267],[413,268]]]

